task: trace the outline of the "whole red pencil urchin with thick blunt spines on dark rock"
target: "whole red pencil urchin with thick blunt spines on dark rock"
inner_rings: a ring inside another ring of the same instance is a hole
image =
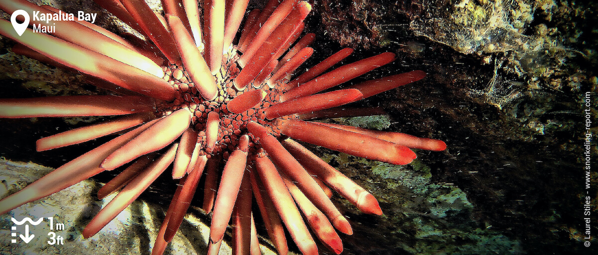
[[[425,76],[410,71],[323,92],[395,59],[386,52],[325,72],[352,53],[343,49],[290,79],[313,53],[307,45],[314,35],[299,39],[311,10],[308,2],[271,0],[263,10],[245,15],[248,0],[205,1],[201,24],[195,0],[162,2],[164,17],[143,0],[97,1],[147,41],[127,41],[85,21],[56,21],[55,33],[28,30],[19,36],[10,22],[0,21],[0,33],[18,42],[14,51],[78,70],[94,85],[114,91],[0,99],[0,117],[122,116],[39,139],[38,151],[127,131],[4,198],[0,213],[131,163],[99,190],[100,198],[120,192],[86,226],[83,236],[88,238],[172,164],[172,178],[181,181],[153,254],[163,253],[179,228],[204,172],[203,209],[214,212],[210,254],[218,253],[231,220],[234,252],[248,254],[255,248],[254,198],[280,254],[288,251],[283,223],[302,253],[318,253],[300,212],[313,234],[338,254],[343,245],[335,230],[350,235],[352,228],[329,199],[329,188],[363,213],[382,210],[373,195],[295,140],[392,164],[416,158],[410,148],[446,148],[435,139],[307,121],[364,114],[367,109],[337,107]],[[7,13],[57,12],[22,0],[2,1],[0,7]],[[218,178],[221,160],[226,163]]]

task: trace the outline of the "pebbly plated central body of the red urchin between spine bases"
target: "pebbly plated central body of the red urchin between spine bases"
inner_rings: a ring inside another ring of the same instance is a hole
[[[246,126],[249,122],[260,123],[266,126],[270,133],[280,136],[280,130],[275,125],[277,118],[267,118],[264,108],[280,102],[280,95],[285,90],[280,89],[277,83],[266,82],[258,78],[252,80],[249,86],[238,89],[234,86],[233,80],[241,70],[239,63],[237,63],[239,57],[240,55],[237,54],[236,47],[230,47],[228,54],[224,54],[221,68],[213,74],[218,94],[212,100],[202,97],[183,66],[170,64],[163,67],[163,79],[175,89],[176,97],[172,102],[158,102],[155,115],[168,116],[182,108],[187,108],[191,111],[193,117],[191,118],[190,129],[198,133],[198,142],[204,148],[200,151],[200,156],[224,153],[225,157],[227,157],[239,145],[240,137],[248,133]],[[257,92],[259,94],[258,91],[263,94],[261,95],[263,98],[255,99],[254,101],[257,103],[254,105],[242,107],[242,110],[231,108],[230,105],[233,103],[229,104],[229,102],[234,98],[246,93],[256,94]],[[218,122],[218,132],[215,144],[213,145],[208,144],[210,141],[206,139],[208,135],[206,134],[206,127],[212,121],[210,116],[217,116],[214,119],[217,119]],[[279,118],[298,119],[298,116],[293,114]],[[253,140],[254,136],[251,133],[249,133],[249,136],[252,139],[249,142],[249,150],[256,152],[256,150],[259,150],[256,146],[257,141]],[[257,153],[261,151],[263,150],[259,150]]]

